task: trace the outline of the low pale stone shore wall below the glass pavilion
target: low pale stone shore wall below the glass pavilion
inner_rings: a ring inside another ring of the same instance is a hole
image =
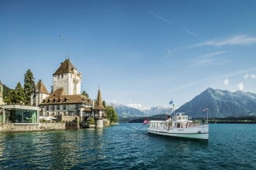
[[[66,129],[65,123],[0,124],[0,132],[11,131],[52,131]]]

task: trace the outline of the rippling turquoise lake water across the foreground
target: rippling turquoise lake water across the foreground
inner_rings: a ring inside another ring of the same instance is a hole
[[[209,141],[142,124],[0,134],[0,169],[256,169],[256,124],[210,124]]]

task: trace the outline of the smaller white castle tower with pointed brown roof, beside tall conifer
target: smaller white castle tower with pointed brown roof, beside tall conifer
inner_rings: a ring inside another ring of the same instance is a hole
[[[32,93],[30,104],[33,106],[39,106],[43,99],[50,95],[47,88],[44,86],[43,81],[39,80],[36,84],[36,93]]]

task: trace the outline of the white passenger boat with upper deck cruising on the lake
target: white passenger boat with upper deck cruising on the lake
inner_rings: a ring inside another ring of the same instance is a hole
[[[170,117],[170,116],[169,116]],[[148,121],[147,132],[178,138],[194,138],[208,140],[209,124],[195,124],[183,113],[177,113],[168,121]]]

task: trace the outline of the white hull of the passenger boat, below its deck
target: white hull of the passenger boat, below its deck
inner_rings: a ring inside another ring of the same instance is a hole
[[[156,127],[147,128],[148,133],[151,134],[161,134],[164,136],[172,136],[178,138],[195,138],[208,140],[209,138],[209,124],[203,124],[198,126],[192,126],[188,128],[166,128],[166,127]]]

